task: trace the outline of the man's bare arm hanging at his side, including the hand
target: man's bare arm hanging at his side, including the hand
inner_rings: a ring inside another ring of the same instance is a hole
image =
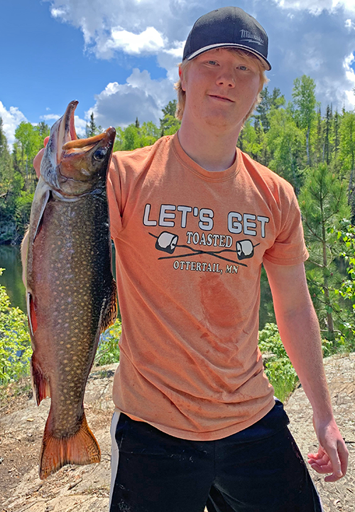
[[[308,462],[318,473],[332,473],[325,481],[337,481],[346,473],[348,451],[332,412],[320,326],[307,288],[305,266],[264,261],[264,267],[283,345],[313,409],[320,448],[317,454],[308,455]]]

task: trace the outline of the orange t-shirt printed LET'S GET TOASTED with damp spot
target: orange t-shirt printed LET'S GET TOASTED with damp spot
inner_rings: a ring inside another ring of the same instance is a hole
[[[114,154],[111,236],[122,316],[116,407],[175,437],[211,440],[271,410],[258,349],[263,259],[307,259],[293,187],[237,149],[202,169],[178,135]]]

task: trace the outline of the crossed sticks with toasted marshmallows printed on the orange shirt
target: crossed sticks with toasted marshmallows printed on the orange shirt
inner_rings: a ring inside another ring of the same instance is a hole
[[[178,244],[179,237],[175,233],[169,233],[168,231],[163,231],[160,233],[160,235],[157,237],[156,235],[153,235],[153,233],[149,233],[153,238],[156,238],[155,241],[155,249],[168,252],[168,254],[172,255],[173,252],[175,252],[175,249],[177,247],[181,249],[187,249],[191,252],[188,252],[187,254],[175,254],[174,256],[162,256],[158,258],[158,260],[168,260],[171,257],[187,257],[187,256],[194,256],[194,255],[210,255],[216,258],[219,258],[220,260],[224,260],[231,263],[239,263],[239,265],[242,265],[243,267],[247,267],[245,263],[241,263],[240,260],[245,260],[246,258],[251,258],[254,255],[254,247],[257,247],[260,244],[253,245],[253,242],[251,240],[239,240],[236,242],[236,250],[233,249],[222,249],[219,251],[212,250],[212,251],[204,251],[201,249],[194,249],[193,247],[190,247],[190,245],[183,245]],[[238,262],[236,260],[230,260],[229,258],[221,256],[221,252],[233,252],[236,254],[236,257],[238,258]]]

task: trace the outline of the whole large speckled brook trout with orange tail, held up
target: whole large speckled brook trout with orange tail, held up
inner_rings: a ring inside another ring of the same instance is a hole
[[[70,102],[50,130],[22,250],[33,393],[38,405],[51,398],[41,479],[65,464],[100,461],[84,390],[99,335],[117,313],[106,191],[116,132],[77,139],[76,107]]]

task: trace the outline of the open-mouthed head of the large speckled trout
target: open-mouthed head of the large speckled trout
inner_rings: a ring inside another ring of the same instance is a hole
[[[102,134],[78,139],[74,124],[77,103],[70,102],[65,114],[50,129],[40,166],[40,174],[50,188],[70,197],[106,187],[116,135],[116,130],[109,127]]]

